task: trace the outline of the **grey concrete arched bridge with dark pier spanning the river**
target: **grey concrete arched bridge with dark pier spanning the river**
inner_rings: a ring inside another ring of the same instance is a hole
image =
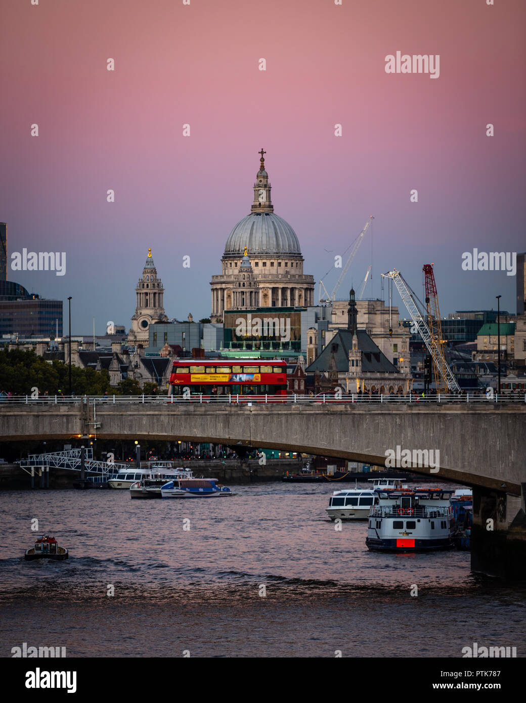
[[[241,444],[381,466],[391,452],[402,459],[397,465],[433,483],[472,486],[473,569],[526,579],[526,405],[520,402],[0,404],[0,441],[89,434]],[[433,461],[425,465],[430,451]]]

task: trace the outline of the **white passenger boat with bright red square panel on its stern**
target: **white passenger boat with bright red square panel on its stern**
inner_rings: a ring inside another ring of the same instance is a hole
[[[373,551],[418,552],[454,546],[451,493],[435,489],[378,489],[366,545]]]

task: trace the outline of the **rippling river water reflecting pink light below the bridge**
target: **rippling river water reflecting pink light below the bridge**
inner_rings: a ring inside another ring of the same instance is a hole
[[[525,586],[470,574],[468,553],[369,552],[366,522],[327,519],[332,489],[4,491],[0,655],[23,642],[70,657],[460,657],[473,642],[525,655]],[[35,517],[68,561],[25,562]]]

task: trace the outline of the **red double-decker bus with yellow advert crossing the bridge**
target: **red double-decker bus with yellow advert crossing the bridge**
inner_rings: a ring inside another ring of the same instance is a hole
[[[183,395],[282,395],[287,394],[286,361],[234,359],[174,361],[169,394]]]

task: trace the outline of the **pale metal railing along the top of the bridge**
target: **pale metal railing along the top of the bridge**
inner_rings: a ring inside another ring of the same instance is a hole
[[[269,403],[282,403],[282,404],[308,404],[308,405],[318,405],[318,404],[407,404],[424,406],[428,404],[475,404],[475,405],[502,405],[502,404],[526,404],[526,392],[511,392],[509,394],[494,394],[494,396],[489,397],[486,394],[473,394],[473,393],[463,393],[463,394],[405,394],[405,395],[394,395],[394,394],[333,394],[333,393],[319,393],[315,396],[306,394],[288,394],[286,396],[282,395],[244,395],[244,394],[229,394],[229,395],[203,395],[203,394],[191,394],[190,396],[121,396],[121,395],[108,395],[108,396],[63,396],[54,395],[46,396],[40,395],[39,397],[32,397],[31,395],[23,396],[1,396],[0,397],[0,410],[6,406],[11,405],[60,405],[60,406],[79,406],[80,404],[90,404],[90,405],[108,405],[108,404],[134,404],[134,405],[177,405],[188,404],[188,403],[219,403],[219,404],[269,404]]]

